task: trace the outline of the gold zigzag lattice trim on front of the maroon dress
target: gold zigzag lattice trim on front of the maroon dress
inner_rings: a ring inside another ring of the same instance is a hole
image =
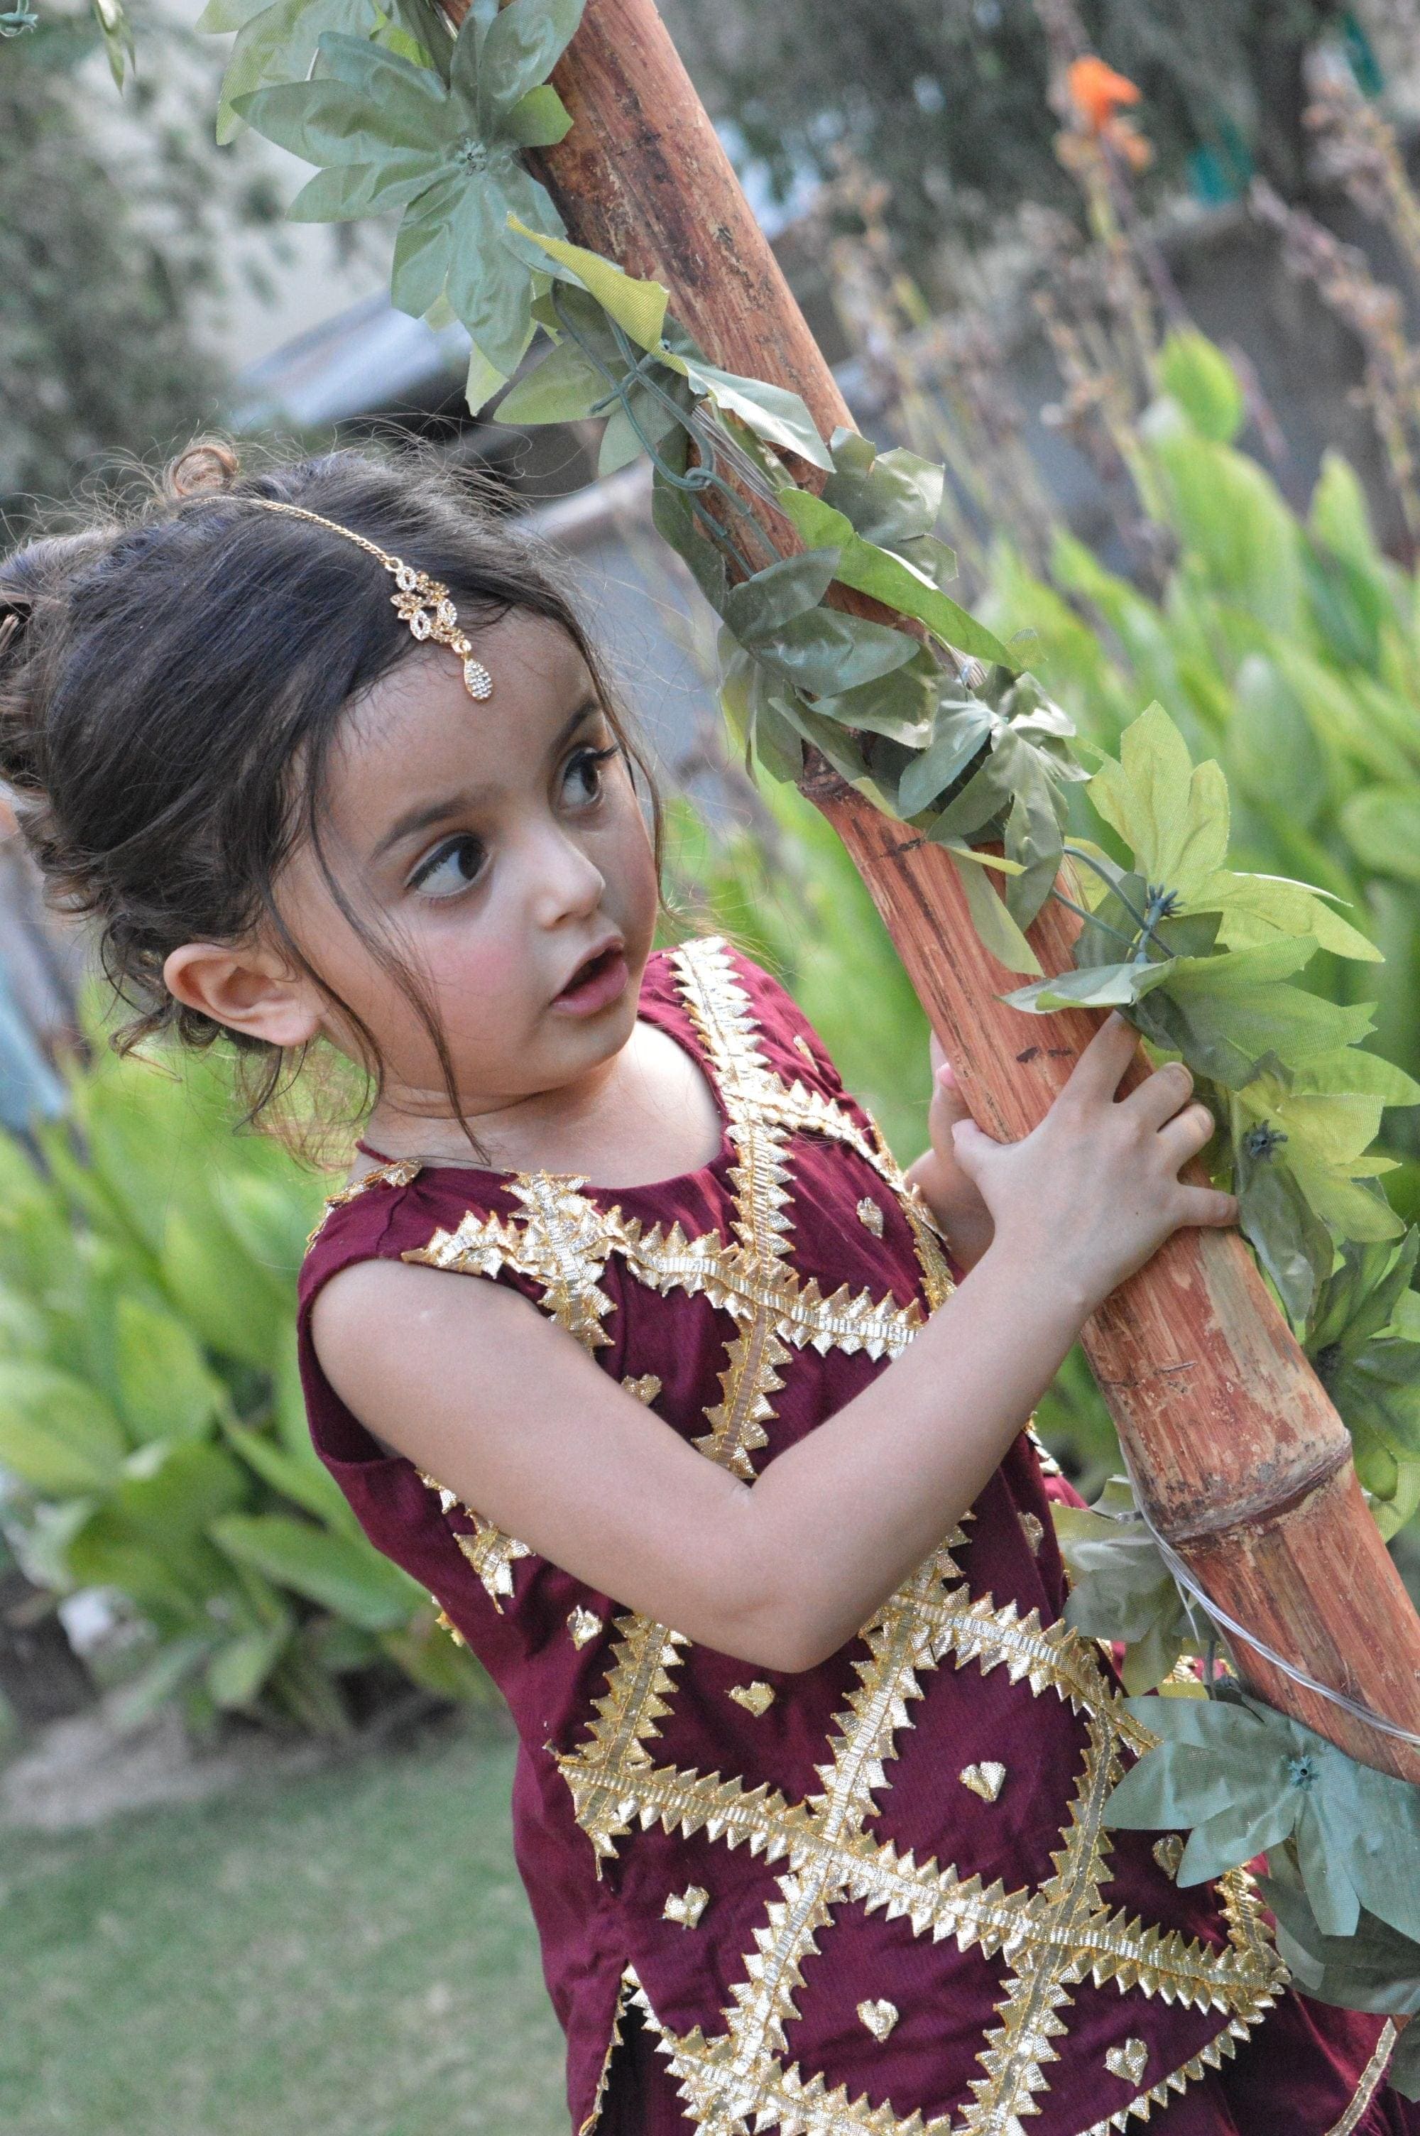
[[[722,944],[688,944],[675,970],[730,1124],[732,1241],[715,1232],[690,1239],[679,1224],[645,1230],[621,1209],[596,1209],[581,1192],[583,1181],[545,1177],[515,1188],[525,1222],[470,1218],[459,1232],[436,1235],[423,1254],[408,1258],[491,1275],[502,1267],[519,1269],[545,1288],[545,1307],[587,1348],[609,1341],[602,1322],[611,1299],[602,1273],[611,1254],[649,1288],[703,1292],[730,1316],[735,1331],[722,1401],[707,1408],[711,1429],[698,1444],[752,1476],[752,1455],[773,1418],[771,1395],[779,1393],[794,1350],[839,1346],[897,1356],[922,1324],[916,1297],[905,1307],[895,1297],[873,1301],[867,1290],[852,1297],[846,1286],[824,1297],[814,1277],[796,1275],[788,1256],[788,1136],[807,1130],[852,1147],[893,1190],[912,1224],[929,1307],[950,1292],[950,1273],[931,1211],[905,1188],[878,1130],[869,1136],[846,1109],[773,1074],[756,1045],[750,998]],[[982,2076],[972,2085],[974,2104],[963,2121],[950,2123],[950,2136],[1021,2136],[1021,2117],[1038,2110],[1046,2066],[1057,2059],[1053,2042],[1066,2031],[1070,1989],[1087,1978],[1115,1980],[1121,1993],[1217,2010],[1224,2019],[1198,2055],[1091,2136],[1121,2130],[1132,2115],[1147,2119],[1151,2104],[1217,2068],[1285,1978],[1245,1882],[1221,1886],[1224,1950],[1108,1910],[1100,1895],[1110,1850],[1104,1803],[1121,1773],[1121,1752],[1145,1749],[1153,1739],[1127,1715],[1091,1643],[1063,1623],[1042,1623],[1040,1611],[1021,1615],[1014,1600],[997,1606],[989,1593],[972,1596],[950,1557],[965,1540],[965,1532],[952,1534],[865,1628],[867,1658],[854,1660],[858,1681],[835,1717],[818,1769],[820,1788],[801,1803],[737,1775],[653,1764],[647,1745],[666,1717],[670,1672],[685,1643],[666,1625],[632,1615],[617,1619],[613,1666],[594,1702],[596,1717],[585,1741],[559,1758],[598,1869],[626,1835],[653,1824],[666,1833],[705,1833],[730,1850],[745,1846],[752,1856],[777,1865],[775,1897],[739,1965],[724,2031],[713,2038],[698,2027],[668,2033],[634,1986],[703,2136],[745,2136],[750,2127],[775,2125],[794,2136],[948,2136],[948,2119],[925,2123],[914,2113],[903,2121],[888,2102],[850,2100],[843,2087],[831,2089],[822,2074],[803,2076],[786,2059],[786,2027],[799,2014],[805,1963],[843,1901],[882,1910],[914,1935],[952,1935],[959,1950],[978,1946],[989,1959],[1001,1954],[1010,1967],[997,2025],[980,2055]],[[1031,1696],[1051,1692],[1085,1719],[1087,1745],[1070,1822],[1053,1858],[1055,1873],[1038,1890],[982,1886],[978,1875],[918,1863],[871,1831],[897,1734],[912,1726],[910,1707],[922,1696],[922,1672],[948,1660],[957,1668],[974,1664],[982,1675],[1004,1668],[1010,1683],[1029,1687]]]

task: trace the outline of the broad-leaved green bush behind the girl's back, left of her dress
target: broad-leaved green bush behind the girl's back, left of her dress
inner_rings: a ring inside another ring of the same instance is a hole
[[[41,1158],[0,1138],[0,1467],[32,1579],[107,1589],[152,1630],[130,1715],[179,1696],[344,1730],[410,1679],[480,1675],[316,1459],[295,1273],[320,1188],[235,1136],[211,1059],[96,1049]]]

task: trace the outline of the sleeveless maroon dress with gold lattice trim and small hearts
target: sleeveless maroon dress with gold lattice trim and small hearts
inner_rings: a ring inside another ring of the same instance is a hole
[[[1245,1878],[1179,1890],[1177,1835],[1104,1828],[1140,1732],[1061,1621],[1027,1435],[863,1632],[788,1675],[589,1591],[337,1401],[312,1301],[404,1258],[521,1290],[750,1478],[948,1294],[920,1198],[782,987],[692,942],[651,957],[641,1015],[715,1089],[709,1164],[626,1190],[384,1164],[335,1196],[301,1273],[316,1448],[517,1722],[517,1860],[574,2130],[1420,2130],[1384,2085],[1390,2025],[1285,1991]]]

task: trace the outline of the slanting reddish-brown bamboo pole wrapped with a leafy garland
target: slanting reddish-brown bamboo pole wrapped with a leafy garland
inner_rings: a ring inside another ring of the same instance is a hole
[[[453,0],[451,15],[463,11]],[[553,83],[572,130],[532,160],[570,235],[664,282],[713,363],[792,387],[824,436],[850,423],[653,0],[587,0]],[[1014,978],[980,946],[948,857],[822,760],[803,790],[863,874],[972,1113],[991,1134],[1027,1134],[1098,1015],[1006,1008]],[[1036,923],[1046,972],[1070,963],[1070,925],[1059,908]],[[1307,1675],[1420,1730],[1420,1619],[1367,1512],[1345,1427],[1243,1241],[1174,1237],[1091,1320],[1085,1348],[1149,1517],[1204,1591]],[[1245,1645],[1236,1653],[1275,1707],[1420,1779],[1420,1754]]]

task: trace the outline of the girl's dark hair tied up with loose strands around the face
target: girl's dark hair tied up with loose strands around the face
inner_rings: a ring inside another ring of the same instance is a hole
[[[98,927],[102,970],[130,1010],[113,1045],[128,1053],[169,1030],[192,1047],[231,1040],[254,1121],[290,1089],[305,1049],[286,1055],[179,1004],[162,965],[182,942],[239,942],[261,927],[344,1015],[378,1091],[372,1032],[275,904],[284,861],[310,842],[342,912],[429,1032],[461,1117],[433,1004],[397,940],[350,904],[322,842],[346,705],[416,643],[386,572],[354,543],[241,500],[301,504],[442,579],[468,632],[510,609],[564,630],[641,775],[660,863],[656,782],[557,568],[491,508],[487,487],[412,451],[239,474],[231,446],[201,440],[154,487],[137,511],[0,562],[0,778],[19,797],[51,901]]]

